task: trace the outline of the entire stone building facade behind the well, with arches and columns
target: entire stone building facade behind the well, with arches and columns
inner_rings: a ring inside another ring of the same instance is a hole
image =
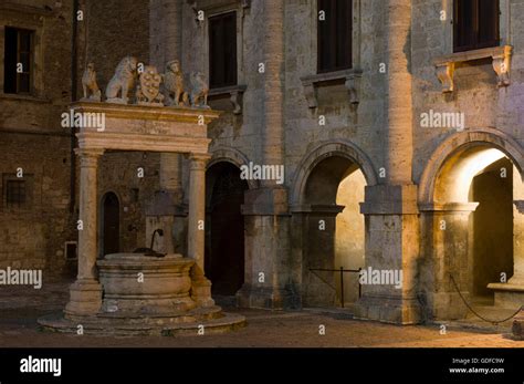
[[[94,62],[102,89],[127,54],[161,70],[179,60],[184,72],[209,77],[212,31],[223,28],[212,23],[229,14],[235,81],[209,94],[223,111],[209,129],[206,190],[214,294],[269,309],[343,301],[357,318],[401,324],[463,318],[459,291],[522,305],[524,1],[494,1],[497,17],[475,20],[496,19],[496,42],[468,49],[454,43],[460,2],[345,1],[350,65],[333,71],[318,70],[318,29],[329,18],[321,4],[336,1],[0,6],[0,28],[35,30],[38,46],[34,94],[0,96],[2,196],[20,165],[33,204],[27,214],[2,209],[0,262],[64,269],[60,251],[75,238],[77,215],[70,133],[60,127],[71,92],[81,96],[72,63],[81,73]],[[73,23],[75,9],[84,20]],[[156,248],[186,253],[188,160],[111,153],[102,162],[99,219],[114,228],[99,233],[101,255],[111,241],[120,251],[148,246],[157,228],[167,235]],[[250,166],[282,166],[283,183],[242,177]],[[359,293],[355,272],[340,284],[340,267],[401,271],[401,284]]]

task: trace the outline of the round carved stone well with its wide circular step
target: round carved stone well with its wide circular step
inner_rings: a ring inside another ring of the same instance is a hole
[[[161,258],[142,253],[107,255],[97,261],[102,284],[101,311],[93,316],[50,315],[41,326],[59,332],[111,335],[171,335],[224,332],[243,326],[241,315],[218,305],[199,307],[191,299],[195,260],[181,255]]]

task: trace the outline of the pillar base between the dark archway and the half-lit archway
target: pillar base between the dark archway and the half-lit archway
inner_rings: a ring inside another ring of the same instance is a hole
[[[244,284],[237,292],[237,304],[239,308],[261,309],[300,309],[301,298],[286,289],[273,289],[266,287],[251,287]]]

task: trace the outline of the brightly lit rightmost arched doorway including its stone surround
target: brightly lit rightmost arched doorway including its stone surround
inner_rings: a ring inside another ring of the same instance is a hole
[[[472,318],[461,295],[494,320],[524,303],[524,295],[517,294],[522,155],[515,143],[501,136],[492,132],[452,136],[422,175],[420,287],[428,293],[433,319]]]

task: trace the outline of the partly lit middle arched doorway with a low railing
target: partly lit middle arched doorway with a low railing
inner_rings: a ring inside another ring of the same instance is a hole
[[[366,178],[348,157],[334,154],[317,163],[304,188],[303,305],[350,307],[358,299],[364,267]],[[335,271],[336,270],[336,271]]]

